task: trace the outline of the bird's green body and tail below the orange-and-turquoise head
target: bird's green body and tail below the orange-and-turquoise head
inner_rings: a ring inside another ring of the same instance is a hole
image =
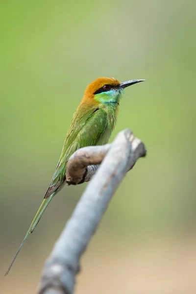
[[[117,105],[109,106],[111,114],[107,114],[107,108],[103,109],[104,107],[98,107],[97,104],[91,105],[91,109],[82,106],[83,105],[80,104],[73,115],[73,120],[49,189],[5,275],[7,275],[11,269],[28,235],[32,233],[37,226],[49,202],[65,185],[66,166],[70,156],[81,147],[103,145],[109,140],[114,123],[116,122],[116,118],[113,115],[115,114]]]

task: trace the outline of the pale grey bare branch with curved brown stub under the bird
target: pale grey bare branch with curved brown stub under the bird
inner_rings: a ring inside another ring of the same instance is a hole
[[[42,273],[39,294],[73,294],[80,257],[111,197],[126,172],[145,155],[144,144],[129,129],[125,129],[112,144],[84,147],[70,157],[66,172],[68,184],[89,181],[97,172],[54,245]]]

